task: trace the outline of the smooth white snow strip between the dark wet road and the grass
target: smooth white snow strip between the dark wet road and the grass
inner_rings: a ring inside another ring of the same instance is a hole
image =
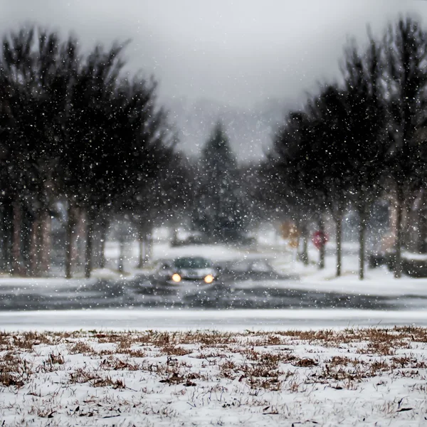
[[[425,310],[46,310],[0,312],[0,330],[312,330],[417,325]]]

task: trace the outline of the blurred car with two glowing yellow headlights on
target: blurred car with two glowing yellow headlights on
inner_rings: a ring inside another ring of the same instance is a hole
[[[162,284],[195,283],[210,285],[218,279],[218,270],[211,260],[201,256],[188,256],[162,260],[154,273],[154,280]]]

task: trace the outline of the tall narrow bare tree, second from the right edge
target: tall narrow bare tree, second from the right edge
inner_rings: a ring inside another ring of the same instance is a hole
[[[369,214],[379,196],[386,159],[386,109],[381,88],[381,46],[369,32],[369,46],[360,51],[352,41],[342,64],[347,120],[350,199],[359,213],[359,278],[364,279],[365,234]]]

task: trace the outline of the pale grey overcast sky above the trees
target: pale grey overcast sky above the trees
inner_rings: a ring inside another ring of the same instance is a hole
[[[132,39],[127,59],[159,80],[163,100],[186,96],[251,107],[296,99],[337,75],[347,36],[399,13],[427,23],[423,0],[0,0],[3,31],[42,23],[83,46]]]

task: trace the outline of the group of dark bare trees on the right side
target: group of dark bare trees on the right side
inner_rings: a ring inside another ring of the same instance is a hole
[[[401,277],[401,249],[413,224],[404,213],[427,183],[427,32],[400,17],[367,46],[344,47],[341,78],[320,85],[305,104],[289,112],[273,137],[260,170],[270,198],[285,201],[302,233],[307,263],[308,224],[324,228],[332,216],[337,240],[337,276],[342,273],[342,221],[351,206],[359,216],[359,278],[364,278],[367,222],[384,196],[396,211],[394,275]],[[424,212],[425,214],[425,212]],[[426,230],[419,230],[425,251]],[[320,255],[324,263],[324,252]],[[323,258],[323,259],[322,259]]]

